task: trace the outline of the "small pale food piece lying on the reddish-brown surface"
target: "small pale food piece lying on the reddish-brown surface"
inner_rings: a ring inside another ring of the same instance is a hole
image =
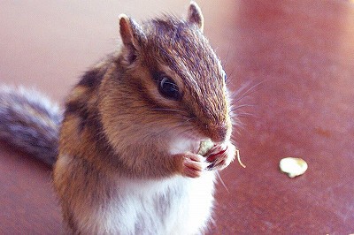
[[[289,178],[294,178],[304,174],[307,170],[307,163],[301,158],[285,157],[281,159],[279,167],[282,172],[288,174]]]

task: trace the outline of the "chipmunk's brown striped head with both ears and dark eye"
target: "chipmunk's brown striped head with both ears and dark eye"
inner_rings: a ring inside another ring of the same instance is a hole
[[[229,140],[226,73],[204,37],[196,3],[185,19],[138,24],[119,17],[122,48],[103,81],[103,121],[113,145],[132,140]],[[122,134],[126,133],[126,134]]]

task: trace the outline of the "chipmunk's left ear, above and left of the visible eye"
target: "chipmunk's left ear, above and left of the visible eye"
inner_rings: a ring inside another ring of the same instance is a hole
[[[140,49],[140,45],[145,38],[142,27],[126,14],[120,14],[119,33],[124,46],[128,50],[129,61],[132,62],[136,58],[136,51]]]

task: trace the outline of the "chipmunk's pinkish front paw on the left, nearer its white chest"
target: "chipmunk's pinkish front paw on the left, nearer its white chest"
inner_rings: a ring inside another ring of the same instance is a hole
[[[203,155],[186,153],[181,156],[181,175],[189,178],[198,178],[208,167]]]

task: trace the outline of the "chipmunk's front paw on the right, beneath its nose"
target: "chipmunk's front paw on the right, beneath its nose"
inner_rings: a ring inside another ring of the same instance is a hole
[[[236,148],[232,143],[214,146],[206,155],[206,161],[209,163],[207,170],[223,170],[232,161],[236,155]]]

